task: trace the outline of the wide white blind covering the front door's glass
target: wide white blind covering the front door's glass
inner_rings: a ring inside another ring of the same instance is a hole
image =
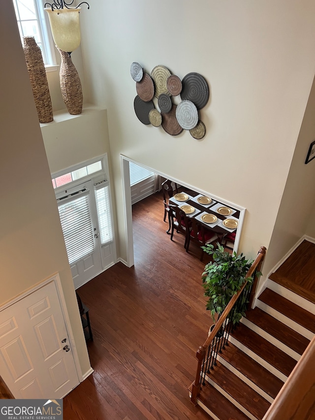
[[[61,202],[58,207],[69,264],[94,251],[88,200],[88,195],[85,194],[71,201]]]

